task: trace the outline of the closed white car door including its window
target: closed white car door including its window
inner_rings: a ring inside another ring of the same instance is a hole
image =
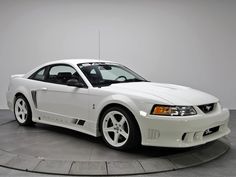
[[[77,126],[79,120],[88,117],[88,88],[68,86],[67,81],[76,78],[83,82],[70,65],[49,67],[45,82],[37,91],[37,110],[40,121],[55,125]]]

